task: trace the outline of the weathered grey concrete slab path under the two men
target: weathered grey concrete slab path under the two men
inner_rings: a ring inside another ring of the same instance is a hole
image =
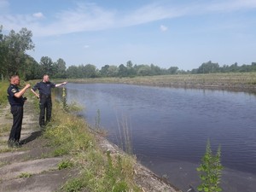
[[[38,126],[38,114],[32,102],[24,106],[24,118],[20,141],[21,148],[9,148],[9,131],[12,114],[9,106],[0,109],[0,191],[1,192],[52,192],[61,189],[72,170],[58,170],[65,157],[49,157],[47,147]],[[61,191],[61,190],[60,190]]]

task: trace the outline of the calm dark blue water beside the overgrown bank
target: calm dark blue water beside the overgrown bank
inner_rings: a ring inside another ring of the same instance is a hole
[[[221,145],[224,191],[256,191],[256,96],[222,90],[158,88],[128,84],[67,84],[67,102],[120,143],[128,127],[133,153],[180,189],[197,186],[195,168],[207,139]]]

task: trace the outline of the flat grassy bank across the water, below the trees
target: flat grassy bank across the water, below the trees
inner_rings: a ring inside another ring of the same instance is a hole
[[[136,78],[68,79],[73,83],[123,83],[256,92],[256,73],[160,75]]]

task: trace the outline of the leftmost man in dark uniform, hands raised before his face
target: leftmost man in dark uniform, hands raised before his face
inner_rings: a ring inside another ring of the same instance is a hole
[[[11,106],[11,113],[13,114],[13,125],[9,134],[9,147],[18,147],[20,145],[20,132],[23,119],[23,105],[26,101],[26,97],[23,94],[30,87],[30,84],[19,90],[20,78],[18,75],[14,75],[10,79],[10,85],[7,90],[9,104]]]

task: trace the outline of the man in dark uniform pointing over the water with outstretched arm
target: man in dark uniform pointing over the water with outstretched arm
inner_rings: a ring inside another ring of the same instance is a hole
[[[31,90],[37,96],[40,98],[39,102],[39,108],[40,108],[40,116],[39,116],[39,125],[40,127],[44,127],[46,123],[50,121],[51,118],[51,88],[59,87],[62,84],[67,84],[67,82],[63,82],[61,84],[53,84],[49,81],[49,75],[45,74],[43,77],[43,80],[38,82]],[[39,90],[39,94],[36,92],[36,90]],[[45,115],[45,109],[46,109],[46,121],[44,121],[44,115]]]

